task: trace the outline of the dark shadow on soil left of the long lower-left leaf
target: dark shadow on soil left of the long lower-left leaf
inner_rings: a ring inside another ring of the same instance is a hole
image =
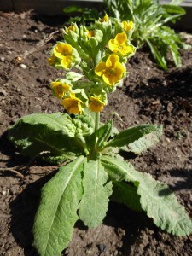
[[[24,248],[26,256],[38,256],[35,248],[32,247],[32,226],[39,206],[41,188],[53,176],[54,173],[49,173],[38,181],[27,185],[26,189],[10,203],[12,219],[9,230],[15,237],[15,241]]]

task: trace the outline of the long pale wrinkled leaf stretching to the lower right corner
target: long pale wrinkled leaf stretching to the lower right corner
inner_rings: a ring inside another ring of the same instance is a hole
[[[184,207],[165,183],[154,180],[148,173],[134,170],[126,162],[107,156],[102,157],[102,166],[109,177],[119,174],[119,180],[124,177],[125,181],[135,184],[143,210],[162,230],[177,236],[187,236],[192,232],[192,222]]]

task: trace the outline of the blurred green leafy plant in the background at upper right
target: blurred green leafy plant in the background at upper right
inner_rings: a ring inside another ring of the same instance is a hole
[[[165,70],[168,54],[171,54],[175,66],[180,67],[179,49],[189,47],[167,24],[185,15],[185,10],[178,6],[181,2],[183,0],[172,0],[162,5],[159,0],[104,0],[110,16],[119,21],[133,20],[136,29],[132,40],[137,49],[148,44],[155,61]]]

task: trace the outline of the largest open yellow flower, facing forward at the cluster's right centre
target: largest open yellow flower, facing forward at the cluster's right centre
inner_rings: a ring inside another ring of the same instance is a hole
[[[116,84],[125,73],[125,68],[119,62],[118,55],[109,55],[106,62],[101,61],[95,70],[98,76],[102,76],[102,79],[106,84]]]

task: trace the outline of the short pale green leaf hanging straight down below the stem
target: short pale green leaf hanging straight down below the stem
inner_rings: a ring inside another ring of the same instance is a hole
[[[79,218],[90,228],[102,224],[108,211],[108,197],[112,194],[112,183],[108,182],[100,160],[84,163],[84,195],[79,204]]]

